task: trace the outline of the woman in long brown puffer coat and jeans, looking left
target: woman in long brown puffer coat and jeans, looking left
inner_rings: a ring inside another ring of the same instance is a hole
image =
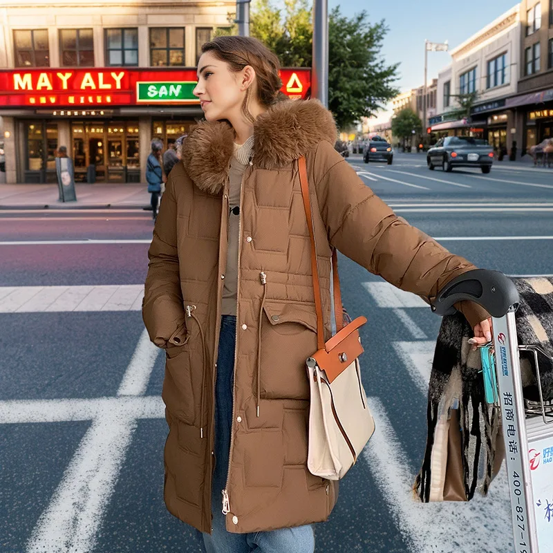
[[[330,256],[429,301],[474,269],[400,221],[335,151],[316,100],[283,99],[261,42],[203,45],[205,113],[167,182],[149,249],[143,317],[167,355],[165,503],[207,552],[308,553],[337,482],[306,467],[306,357],[317,349],[310,238],[297,159],[306,156],[330,337]],[[478,341],[487,313],[459,308]]]

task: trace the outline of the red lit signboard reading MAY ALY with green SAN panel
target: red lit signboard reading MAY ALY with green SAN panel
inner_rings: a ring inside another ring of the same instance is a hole
[[[281,90],[293,100],[310,94],[309,68],[282,69],[281,79]],[[195,68],[11,69],[0,71],[0,109],[198,104],[198,98],[191,94],[194,82]]]

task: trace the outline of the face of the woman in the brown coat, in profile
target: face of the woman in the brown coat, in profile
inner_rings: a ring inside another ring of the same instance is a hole
[[[202,54],[198,62],[198,84],[194,88],[194,95],[200,98],[200,106],[207,121],[233,120],[239,116],[247,88],[246,72],[244,68],[238,73],[232,73],[228,64],[221,62],[211,52]]]

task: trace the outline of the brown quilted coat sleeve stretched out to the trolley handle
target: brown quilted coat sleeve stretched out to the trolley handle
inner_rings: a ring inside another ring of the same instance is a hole
[[[427,303],[451,279],[476,266],[395,215],[328,142],[321,142],[312,171],[330,245],[368,271]],[[456,303],[471,328],[489,317],[471,301]]]

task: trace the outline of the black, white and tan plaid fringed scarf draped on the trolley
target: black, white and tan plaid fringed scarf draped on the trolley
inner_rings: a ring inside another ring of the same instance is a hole
[[[539,345],[553,356],[553,277],[514,279],[514,283],[521,297],[515,313],[518,344]],[[429,383],[427,448],[414,485],[424,503],[447,499],[441,489],[445,475],[441,456],[447,456],[444,432],[452,410],[458,410],[460,423],[461,458],[455,461],[462,467],[463,499],[473,498],[476,490],[486,495],[503,460],[500,413],[485,401],[480,351],[472,351],[468,343],[472,336],[460,313],[443,317]],[[538,359],[544,400],[553,400],[553,364],[543,355]],[[537,400],[534,357],[523,351],[521,373],[525,400]],[[433,474],[433,469],[441,474]]]

